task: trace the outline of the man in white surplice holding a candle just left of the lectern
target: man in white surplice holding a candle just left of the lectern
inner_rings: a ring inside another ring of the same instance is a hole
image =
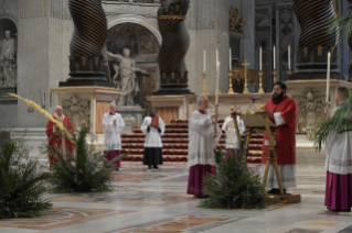
[[[204,198],[204,176],[215,173],[215,155],[214,148],[218,144],[221,137],[221,129],[215,124],[217,113],[207,114],[209,107],[206,96],[196,98],[199,109],[191,115],[189,122],[189,157],[188,167],[189,195],[195,198]],[[216,129],[216,135],[214,131]]]

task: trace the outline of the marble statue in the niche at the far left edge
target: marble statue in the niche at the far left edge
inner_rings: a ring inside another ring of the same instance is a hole
[[[6,38],[0,44],[0,81],[1,86],[15,85],[17,63],[15,63],[15,40],[11,37],[11,32],[4,32]]]

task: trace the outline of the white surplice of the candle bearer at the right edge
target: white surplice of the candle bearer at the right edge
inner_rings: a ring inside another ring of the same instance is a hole
[[[335,114],[335,108],[331,116]],[[334,174],[352,174],[352,132],[330,133],[326,142],[326,169]]]

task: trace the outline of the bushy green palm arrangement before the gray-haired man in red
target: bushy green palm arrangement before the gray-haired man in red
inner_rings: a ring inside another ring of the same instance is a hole
[[[111,191],[111,175],[115,170],[113,163],[127,154],[116,157],[111,162],[105,160],[102,153],[96,153],[94,146],[88,145],[86,137],[88,129],[83,127],[77,136],[74,136],[75,153],[72,160],[66,160],[57,149],[49,146],[50,153],[58,158],[53,164],[51,184],[55,192],[89,192]]]

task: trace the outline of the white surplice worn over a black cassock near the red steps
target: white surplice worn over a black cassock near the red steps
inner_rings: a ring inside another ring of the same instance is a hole
[[[151,124],[151,116],[146,116],[143,120],[143,123],[140,126],[140,130],[146,134],[146,140],[145,140],[145,147],[162,147],[162,141],[161,136],[166,132],[166,124],[163,123],[162,119],[159,118],[159,127],[160,127],[160,133],[156,127],[149,127]],[[148,132],[149,127],[149,132]]]

